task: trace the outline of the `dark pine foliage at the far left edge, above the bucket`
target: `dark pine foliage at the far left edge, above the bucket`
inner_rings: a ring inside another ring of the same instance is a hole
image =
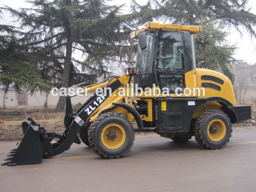
[[[5,8],[0,8],[1,19],[5,13]],[[21,86],[28,88],[31,93],[36,89],[49,89],[33,63],[34,55],[22,49],[18,34],[17,27],[0,25],[0,83],[5,88],[5,94],[10,86],[17,92]]]

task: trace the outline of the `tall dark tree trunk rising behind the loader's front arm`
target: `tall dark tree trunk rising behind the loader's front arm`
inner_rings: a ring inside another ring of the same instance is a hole
[[[73,41],[74,41],[74,29],[73,27],[70,27],[69,36],[68,36],[67,45],[66,45],[66,56],[65,56],[64,69],[63,69],[63,79],[61,82],[62,88],[69,87]],[[55,109],[56,112],[62,112],[64,110],[65,103],[66,103],[65,101],[66,101],[65,96],[59,96],[59,100]]]

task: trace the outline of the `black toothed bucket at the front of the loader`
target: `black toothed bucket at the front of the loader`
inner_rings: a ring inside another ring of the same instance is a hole
[[[31,120],[31,121],[30,121]],[[2,165],[24,165],[24,164],[36,164],[42,162],[42,156],[44,153],[44,146],[42,145],[39,125],[35,124],[32,119],[24,121],[22,123],[23,131],[25,133],[22,141],[17,149],[12,150],[9,155],[9,162]]]

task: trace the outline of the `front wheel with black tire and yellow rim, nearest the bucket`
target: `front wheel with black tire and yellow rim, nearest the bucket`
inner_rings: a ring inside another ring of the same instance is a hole
[[[89,142],[103,158],[120,158],[130,151],[134,141],[131,122],[118,113],[98,116],[89,129]]]

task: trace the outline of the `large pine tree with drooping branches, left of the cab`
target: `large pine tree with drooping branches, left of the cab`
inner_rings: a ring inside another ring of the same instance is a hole
[[[121,38],[123,18],[119,7],[107,6],[98,0],[34,0],[31,9],[10,12],[18,18],[26,31],[20,38],[24,49],[37,55],[38,69],[48,69],[68,88],[76,81],[95,81],[106,75],[105,62],[116,53],[115,42]],[[84,55],[84,60],[73,53]],[[84,73],[81,73],[80,68]],[[60,97],[56,111],[62,111],[65,98]]]

